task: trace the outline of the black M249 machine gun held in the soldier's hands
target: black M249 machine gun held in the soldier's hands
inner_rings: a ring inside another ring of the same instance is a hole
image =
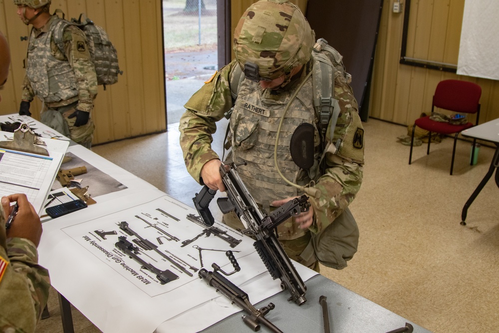
[[[227,168],[226,168],[227,167]],[[282,290],[288,290],[293,301],[298,305],[306,302],[306,286],[301,280],[298,272],[284,252],[277,240],[275,228],[291,216],[299,215],[309,209],[308,197],[302,195],[299,198],[288,201],[286,204],[275,209],[271,214],[266,214],[251,197],[246,185],[237,172],[236,165],[232,161],[226,161],[220,166],[220,174],[227,190],[227,198],[217,199],[222,213],[227,214],[235,211],[246,230],[244,234],[256,239],[253,246],[265,264],[270,276],[280,279]],[[194,205],[202,217],[204,223],[211,226],[215,220],[210,212],[209,204],[217,191],[206,185],[193,198]]]

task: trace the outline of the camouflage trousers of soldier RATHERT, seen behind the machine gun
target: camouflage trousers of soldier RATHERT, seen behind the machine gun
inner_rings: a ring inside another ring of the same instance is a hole
[[[245,226],[234,212],[224,214],[222,222],[236,230],[245,229]],[[279,240],[279,243],[290,259],[319,273],[319,262],[313,254],[310,254],[310,251],[313,251],[310,239],[311,234],[308,231],[304,236],[292,240]]]

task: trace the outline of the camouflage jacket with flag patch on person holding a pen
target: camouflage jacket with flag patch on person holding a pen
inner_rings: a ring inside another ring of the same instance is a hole
[[[48,271],[31,241],[6,238],[4,217],[0,207],[0,264],[7,263],[0,274],[0,332],[34,332],[48,300]]]

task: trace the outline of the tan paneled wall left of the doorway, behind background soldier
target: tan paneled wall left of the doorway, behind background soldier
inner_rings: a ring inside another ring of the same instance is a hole
[[[161,0],[52,0],[50,12],[60,8],[66,18],[81,12],[106,29],[118,51],[123,75],[118,83],[99,86],[92,117],[93,144],[166,130],[165,80]],[[0,114],[17,113],[25,70],[23,59],[29,35],[12,0],[0,0],[0,29],[10,45],[12,63],[2,91]],[[31,104],[39,119],[41,103]]]

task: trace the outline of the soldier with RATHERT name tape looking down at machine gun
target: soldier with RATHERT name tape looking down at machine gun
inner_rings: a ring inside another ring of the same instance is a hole
[[[348,205],[362,183],[364,130],[341,56],[315,42],[286,0],[253,3],[236,27],[234,52],[185,105],[179,129],[187,170],[225,191],[211,142],[216,122],[230,115],[229,159],[254,200],[268,213],[309,196],[308,212],[277,227],[287,255],[316,271],[318,263],[346,267],[359,238]],[[223,222],[244,229],[235,214]]]

